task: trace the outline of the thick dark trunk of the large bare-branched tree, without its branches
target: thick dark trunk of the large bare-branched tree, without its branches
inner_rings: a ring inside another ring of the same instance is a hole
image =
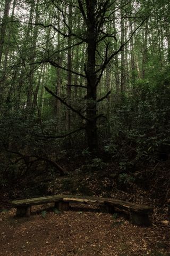
[[[97,137],[97,104],[96,104],[96,20],[95,20],[95,7],[96,0],[86,0],[87,6],[87,122],[86,132],[87,141],[90,151],[98,149],[98,137]]]

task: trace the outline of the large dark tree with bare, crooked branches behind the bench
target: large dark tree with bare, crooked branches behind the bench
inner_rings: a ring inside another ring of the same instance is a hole
[[[60,2],[60,1],[59,1]],[[58,27],[55,26],[55,23],[49,23],[45,25],[43,23],[34,23],[34,25],[39,25],[43,28],[52,27],[58,34],[64,38],[70,38],[68,40],[67,47],[62,49],[70,53],[69,49],[72,47],[77,47],[80,44],[86,44],[86,62],[84,63],[84,73],[81,71],[74,70],[71,65],[61,66],[59,61],[56,61],[53,58],[48,56],[44,59],[44,62],[49,62],[50,65],[58,69],[63,69],[67,71],[68,81],[71,83],[71,74],[77,75],[78,77],[83,77],[86,80],[86,85],[79,85],[79,87],[86,88],[86,111],[83,109],[74,108],[71,106],[70,102],[67,102],[65,99],[60,98],[54,92],[49,90],[48,87],[45,89],[59,101],[61,101],[67,108],[77,113],[79,117],[83,119],[84,126],[80,127],[77,130],[84,129],[87,134],[88,148],[90,151],[96,151],[98,149],[98,132],[97,132],[97,120],[98,118],[104,118],[103,114],[98,114],[98,103],[111,93],[108,91],[106,95],[103,95],[100,99],[97,99],[97,87],[100,83],[101,77],[103,76],[104,70],[107,67],[108,63],[121,51],[123,51],[124,46],[130,42],[134,32],[142,26],[145,19],[143,19],[138,27],[136,27],[126,41],[121,41],[118,44],[115,44],[116,47],[110,47],[111,41],[117,41],[115,29],[107,29],[108,22],[112,22],[113,17],[115,17],[115,12],[121,10],[127,3],[122,1],[111,0],[77,0],[77,1],[62,1],[66,5],[68,14],[63,12],[61,5],[52,1],[53,5],[56,7],[57,11],[61,13],[62,22],[67,27],[67,34]],[[128,2],[129,3],[129,2]],[[71,10],[72,7],[72,10]],[[77,29],[76,26],[70,26],[70,13],[72,15],[81,15],[81,29]],[[122,17],[123,19],[123,17]],[[123,21],[122,21],[123,22]],[[63,26],[64,27],[64,26]],[[70,54],[68,55],[70,56]],[[69,59],[70,60],[70,59]],[[70,86],[70,84],[69,84]],[[78,86],[78,85],[74,85]],[[76,130],[76,131],[77,131]],[[69,132],[70,134],[70,132]]]

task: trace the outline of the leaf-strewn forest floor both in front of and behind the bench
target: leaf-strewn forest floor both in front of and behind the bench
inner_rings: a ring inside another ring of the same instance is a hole
[[[169,163],[141,168],[142,182],[120,182],[114,164],[87,169],[83,159],[60,162],[60,177],[51,169],[35,169],[0,189],[0,255],[170,256]],[[147,169],[148,168],[148,169]],[[145,171],[143,171],[145,170]],[[146,175],[145,175],[146,174]],[[9,201],[54,194],[112,197],[152,205],[152,225],[134,226],[123,215],[95,209],[60,214],[49,205],[33,207],[30,218],[16,218]],[[45,210],[45,211],[44,211]]]

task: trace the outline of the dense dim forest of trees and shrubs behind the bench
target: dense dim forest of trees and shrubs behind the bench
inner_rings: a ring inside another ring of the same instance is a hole
[[[1,1],[3,200],[138,190],[168,204],[169,12],[167,0]]]

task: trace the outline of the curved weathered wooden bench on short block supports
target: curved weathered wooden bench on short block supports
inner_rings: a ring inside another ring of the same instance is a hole
[[[69,209],[69,204],[94,204],[98,205],[101,210],[109,213],[123,211],[130,215],[134,225],[149,225],[149,214],[152,213],[152,207],[141,204],[134,204],[126,201],[120,201],[112,198],[102,197],[85,197],[72,195],[56,195],[30,199],[12,201],[12,206],[16,207],[16,216],[29,217],[32,205],[53,203],[59,211]]]

